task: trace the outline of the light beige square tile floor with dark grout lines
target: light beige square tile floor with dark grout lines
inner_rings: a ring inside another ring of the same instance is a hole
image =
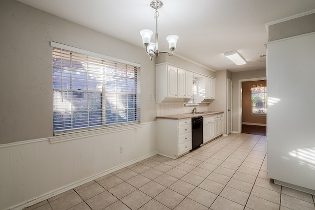
[[[266,137],[230,134],[176,160],[155,155],[28,210],[315,210],[267,177]]]

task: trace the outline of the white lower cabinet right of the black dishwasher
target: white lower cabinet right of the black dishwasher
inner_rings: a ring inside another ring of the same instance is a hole
[[[223,134],[223,114],[203,116],[203,144]]]

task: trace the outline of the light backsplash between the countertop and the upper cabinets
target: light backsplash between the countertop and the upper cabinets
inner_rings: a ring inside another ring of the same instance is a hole
[[[194,107],[197,107],[197,112],[208,110],[208,104],[198,104],[196,106],[185,106],[183,103],[157,104],[157,117],[191,113]]]

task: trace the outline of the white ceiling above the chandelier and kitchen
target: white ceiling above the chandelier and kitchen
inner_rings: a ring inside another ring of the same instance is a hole
[[[151,0],[19,1],[143,48],[139,31],[151,29],[155,33]],[[315,9],[315,0],[162,2],[163,7],[158,9],[159,49],[167,50],[165,37],[176,34],[179,39],[175,55],[215,71],[228,69],[231,72],[266,67],[266,58],[260,58],[266,54],[266,23]],[[224,52],[234,50],[247,64],[237,66],[223,56]]]

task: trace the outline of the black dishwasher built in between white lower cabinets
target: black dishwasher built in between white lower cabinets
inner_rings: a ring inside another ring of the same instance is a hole
[[[203,117],[191,118],[191,150],[194,150],[203,143]]]

